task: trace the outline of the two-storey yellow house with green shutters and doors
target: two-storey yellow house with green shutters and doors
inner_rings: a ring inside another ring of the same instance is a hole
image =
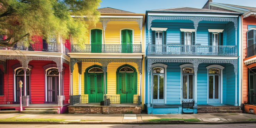
[[[80,113],[140,113],[144,109],[145,14],[113,8],[98,11],[100,22],[89,26],[85,48],[71,46],[69,112],[77,113],[77,106],[83,106],[91,108]],[[118,106],[124,110],[115,111]],[[95,112],[97,107],[100,112]]]

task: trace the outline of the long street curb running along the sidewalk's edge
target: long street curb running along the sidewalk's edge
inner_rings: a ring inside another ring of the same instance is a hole
[[[256,121],[232,121],[232,122],[182,122],[182,121],[171,121],[171,122],[85,122],[85,121],[77,121],[77,122],[44,122],[44,121],[26,121],[26,122],[0,122],[0,124],[30,124],[30,125],[64,125],[64,124],[72,124],[72,125],[160,125],[160,124],[197,124],[197,125],[205,125],[205,124],[231,124],[231,123],[256,123]]]

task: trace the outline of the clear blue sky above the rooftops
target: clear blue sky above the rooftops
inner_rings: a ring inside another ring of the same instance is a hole
[[[207,0],[102,0],[100,8],[110,7],[135,13],[145,13],[146,10],[164,8],[202,8],[206,2]],[[213,0],[213,2],[256,7],[256,0]]]

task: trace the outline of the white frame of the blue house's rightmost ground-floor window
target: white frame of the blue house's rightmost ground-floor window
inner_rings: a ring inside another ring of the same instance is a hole
[[[220,93],[221,93],[221,97],[220,97],[220,103],[222,104],[222,88],[223,88],[223,78],[222,78],[222,71],[225,67],[221,66],[221,65],[210,65],[210,66],[207,66],[206,69],[207,69],[207,104],[208,104],[208,100],[209,100],[209,69],[219,69],[220,70]]]

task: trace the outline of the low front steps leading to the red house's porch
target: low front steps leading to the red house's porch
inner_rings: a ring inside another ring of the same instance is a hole
[[[20,113],[58,114],[58,108],[25,108]]]

